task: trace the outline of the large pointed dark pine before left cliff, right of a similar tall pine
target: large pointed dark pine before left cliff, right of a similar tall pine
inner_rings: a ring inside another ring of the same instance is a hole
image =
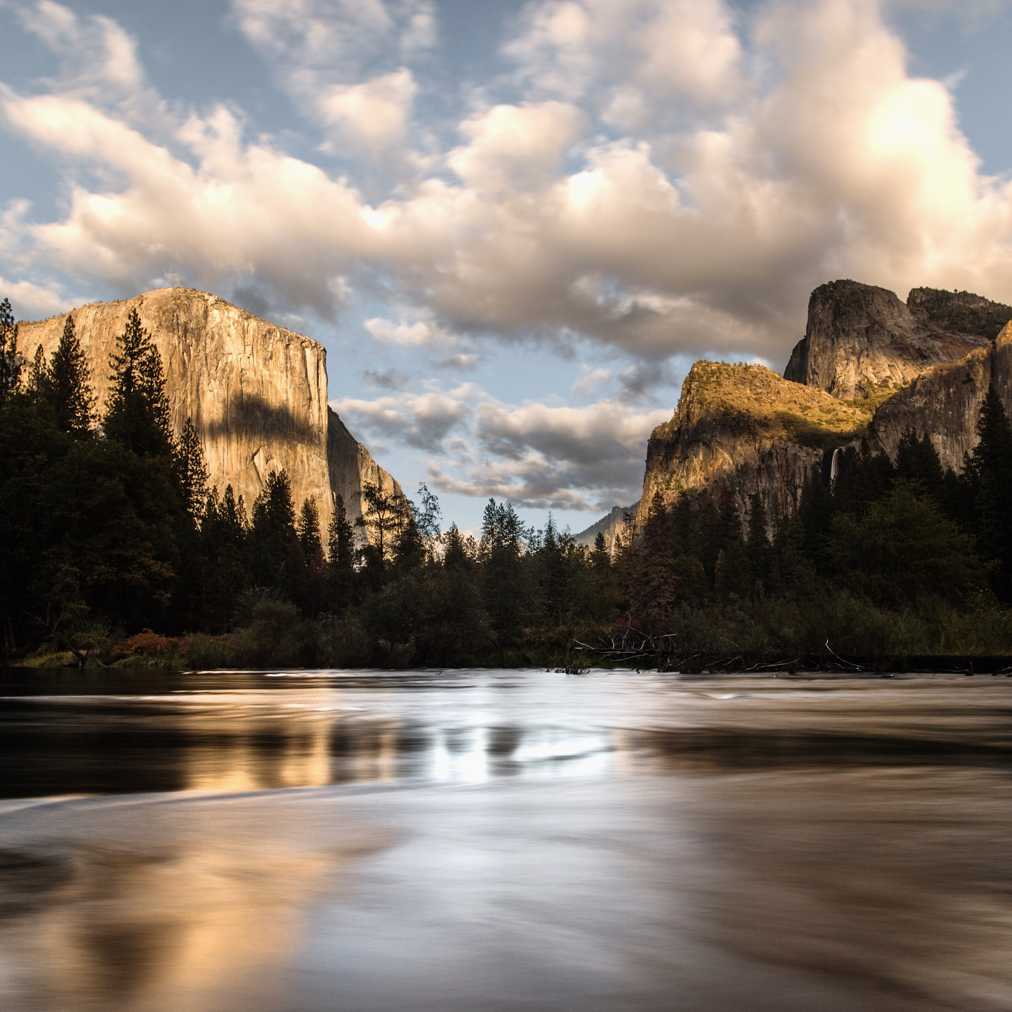
[[[105,435],[135,453],[170,456],[169,402],[165,395],[162,356],[151,335],[131,310],[119,347],[110,359],[112,373],[103,427]]]

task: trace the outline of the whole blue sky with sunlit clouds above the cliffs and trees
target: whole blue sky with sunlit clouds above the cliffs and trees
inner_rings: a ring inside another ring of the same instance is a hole
[[[327,348],[446,521],[639,497],[697,358],[838,277],[1012,303],[1012,3],[0,0],[0,296]]]

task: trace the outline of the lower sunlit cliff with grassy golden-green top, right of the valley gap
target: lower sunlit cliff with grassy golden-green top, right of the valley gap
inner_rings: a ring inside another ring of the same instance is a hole
[[[743,516],[755,492],[771,513],[789,513],[826,449],[847,443],[870,417],[861,402],[791,383],[763,365],[696,362],[674,417],[654,429],[647,444],[637,527],[655,492],[670,505],[723,484],[731,486]]]

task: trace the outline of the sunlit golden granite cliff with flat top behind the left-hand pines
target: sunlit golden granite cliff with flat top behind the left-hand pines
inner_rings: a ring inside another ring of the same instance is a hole
[[[210,484],[219,491],[231,484],[247,511],[268,474],[281,469],[297,509],[316,498],[325,534],[335,493],[354,519],[365,482],[400,491],[327,406],[323,346],[203,291],[159,288],[72,311],[99,412],[109,391],[109,356],[134,309],[161,353],[175,431],[193,420]],[[52,356],[65,320],[22,323],[21,354],[30,360],[41,345]]]

